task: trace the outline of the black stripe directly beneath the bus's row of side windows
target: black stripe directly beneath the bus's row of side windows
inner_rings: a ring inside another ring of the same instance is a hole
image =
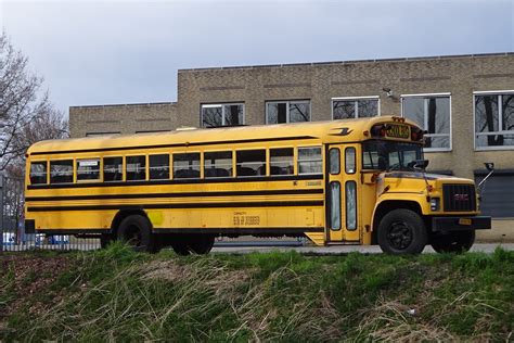
[[[53,183],[28,185],[27,189],[59,189],[59,188],[94,188],[94,187],[129,187],[129,186],[158,186],[158,185],[196,185],[196,183],[232,183],[232,182],[267,182],[267,181],[300,181],[321,180],[322,174],[317,175],[290,175],[290,176],[259,176],[259,177],[220,177],[204,179],[174,179],[174,180],[141,180],[141,181],[113,181],[113,182],[80,182],[80,183]]]

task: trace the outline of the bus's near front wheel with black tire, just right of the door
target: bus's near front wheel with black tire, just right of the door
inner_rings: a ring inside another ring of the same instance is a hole
[[[385,253],[420,254],[427,241],[423,218],[411,209],[394,209],[378,224],[378,244]]]

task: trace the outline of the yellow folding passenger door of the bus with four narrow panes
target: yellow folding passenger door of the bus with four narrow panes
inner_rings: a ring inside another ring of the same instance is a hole
[[[327,150],[326,238],[330,243],[359,242],[357,147]]]

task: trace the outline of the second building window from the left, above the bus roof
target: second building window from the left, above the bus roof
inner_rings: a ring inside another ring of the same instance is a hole
[[[266,103],[266,124],[310,122],[310,100]]]

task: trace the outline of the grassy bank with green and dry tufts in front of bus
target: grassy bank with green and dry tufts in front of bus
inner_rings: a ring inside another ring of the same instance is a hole
[[[26,253],[51,259],[44,253]],[[0,340],[506,341],[514,252],[388,256],[298,253],[180,257],[68,253],[48,276],[0,275]],[[59,255],[62,257],[62,255]]]

